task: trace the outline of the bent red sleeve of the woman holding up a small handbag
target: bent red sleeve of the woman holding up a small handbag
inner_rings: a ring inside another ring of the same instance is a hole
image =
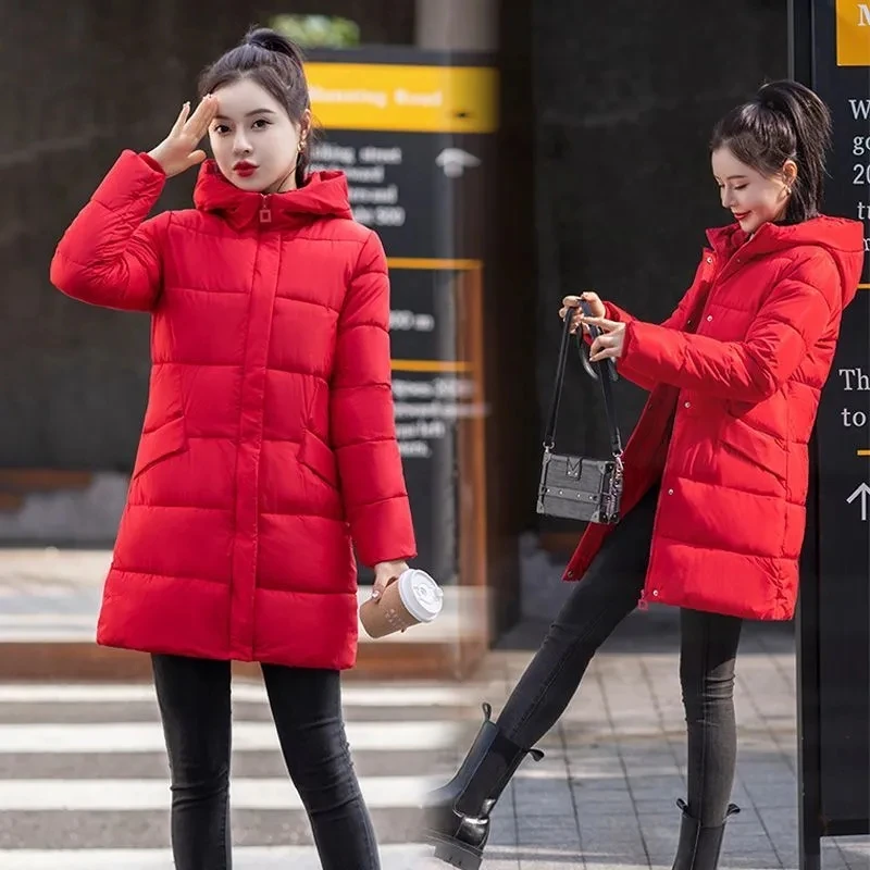
[[[741,341],[632,321],[625,327],[622,371],[722,399],[770,398],[794,374],[838,312],[840,272],[819,252],[774,285]]]

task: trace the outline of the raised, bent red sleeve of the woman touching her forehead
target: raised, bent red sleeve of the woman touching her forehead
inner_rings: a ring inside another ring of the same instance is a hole
[[[160,293],[170,215],[145,219],[165,179],[152,160],[124,151],[60,240],[51,283],[83,302],[150,311]]]

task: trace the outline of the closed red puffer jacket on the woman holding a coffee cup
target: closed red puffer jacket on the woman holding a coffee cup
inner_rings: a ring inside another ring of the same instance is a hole
[[[389,288],[341,173],[262,196],[212,162],[125,151],[51,263],[63,293],[152,313],[148,407],[98,643],[349,668],[361,561],[415,555],[395,437]]]

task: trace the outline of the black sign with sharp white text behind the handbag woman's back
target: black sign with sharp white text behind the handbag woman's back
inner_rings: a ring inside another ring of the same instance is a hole
[[[793,11],[794,75],[833,114],[825,211],[870,227],[870,7],[796,0]],[[870,833],[867,266],[861,283],[843,318],[813,445],[799,608],[801,868],[820,867],[820,837]]]

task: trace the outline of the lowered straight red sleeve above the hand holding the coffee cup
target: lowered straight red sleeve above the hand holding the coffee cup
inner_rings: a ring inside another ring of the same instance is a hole
[[[388,331],[386,257],[371,233],[338,318],[330,393],[345,515],[357,554],[369,567],[417,556],[396,439]]]

